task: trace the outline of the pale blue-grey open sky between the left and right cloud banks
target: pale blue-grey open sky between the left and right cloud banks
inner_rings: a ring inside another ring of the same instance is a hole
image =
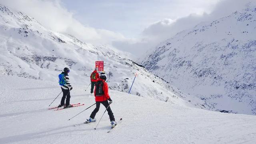
[[[150,24],[166,18],[210,13],[219,0],[62,0],[81,23],[136,38]]]

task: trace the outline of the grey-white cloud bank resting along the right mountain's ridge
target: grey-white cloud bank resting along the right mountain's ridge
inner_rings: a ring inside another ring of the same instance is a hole
[[[178,18],[176,20],[165,18],[145,28],[138,40],[134,42],[118,41],[113,42],[113,44],[116,47],[122,46],[122,50],[143,57],[143,54],[145,54],[147,50],[151,50],[160,42],[172,38],[172,36],[178,32],[192,28],[200,22],[213,21],[228,16],[236,10],[244,9],[249,2],[256,3],[255,0],[222,0],[209,14],[206,12],[190,14],[189,16]]]

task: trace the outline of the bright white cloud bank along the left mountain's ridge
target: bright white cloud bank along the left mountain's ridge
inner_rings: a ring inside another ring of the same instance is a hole
[[[62,6],[60,0],[0,0],[1,4],[25,12],[46,28],[56,32],[72,34],[85,42],[111,44],[112,40],[122,40],[122,34],[109,30],[84,26]]]

